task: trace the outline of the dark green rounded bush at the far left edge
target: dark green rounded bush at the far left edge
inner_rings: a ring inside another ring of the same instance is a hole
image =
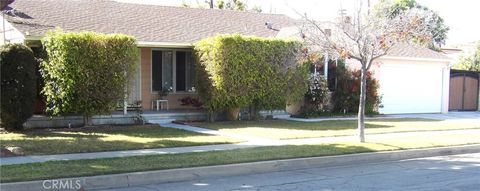
[[[7,130],[22,130],[33,115],[36,97],[36,60],[30,48],[7,44],[0,50],[1,125]]]

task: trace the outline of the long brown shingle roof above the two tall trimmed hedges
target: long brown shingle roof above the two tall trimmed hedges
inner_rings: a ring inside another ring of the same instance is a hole
[[[285,15],[120,3],[111,0],[17,0],[5,18],[23,34],[43,36],[66,31],[96,31],[133,35],[138,41],[193,43],[216,34],[240,33],[271,37],[295,24]]]

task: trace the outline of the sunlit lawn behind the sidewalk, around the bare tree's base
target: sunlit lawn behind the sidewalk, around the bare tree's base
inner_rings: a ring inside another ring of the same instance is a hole
[[[356,120],[321,122],[296,122],[285,120],[235,121],[197,123],[200,127],[229,133],[269,138],[297,139],[312,137],[347,136],[357,133]],[[367,120],[366,134],[432,131],[480,128],[480,123],[472,121],[441,121],[420,118],[374,119]]]

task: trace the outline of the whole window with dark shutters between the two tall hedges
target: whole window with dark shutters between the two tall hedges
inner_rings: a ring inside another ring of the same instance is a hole
[[[175,59],[174,59],[175,58]],[[152,51],[152,91],[194,91],[195,62],[191,51]]]

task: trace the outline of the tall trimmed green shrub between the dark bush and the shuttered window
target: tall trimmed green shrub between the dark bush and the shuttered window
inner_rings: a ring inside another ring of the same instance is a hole
[[[47,59],[41,64],[47,112],[94,114],[115,109],[126,95],[138,58],[133,37],[94,32],[50,31],[42,39]]]

